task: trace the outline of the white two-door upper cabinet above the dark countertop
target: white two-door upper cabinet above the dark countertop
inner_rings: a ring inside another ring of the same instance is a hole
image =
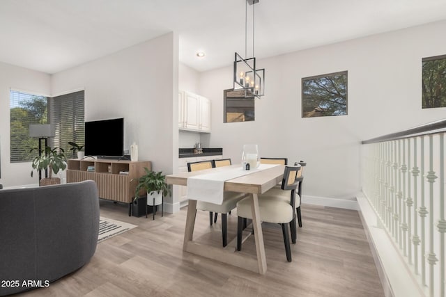
[[[210,131],[210,100],[187,91],[178,96],[178,128],[191,131]]]

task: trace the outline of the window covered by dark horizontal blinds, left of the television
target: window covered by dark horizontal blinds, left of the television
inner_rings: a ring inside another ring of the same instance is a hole
[[[71,154],[68,141],[84,145],[85,143],[84,91],[49,98],[49,121],[56,129],[54,146],[65,150],[68,158],[77,158]]]

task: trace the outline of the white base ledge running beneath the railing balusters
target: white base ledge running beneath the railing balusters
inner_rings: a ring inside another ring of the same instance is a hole
[[[410,273],[397,246],[387,232],[379,227],[380,222],[363,193],[357,195],[357,204],[385,296],[426,296]]]

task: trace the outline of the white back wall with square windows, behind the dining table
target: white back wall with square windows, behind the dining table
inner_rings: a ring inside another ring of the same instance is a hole
[[[223,123],[223,90],[232,67],[203,72],[200,94],[212,100],[210,143],[240,161],[245,143],[261,156],[307,161],[307,196],[349,199],[360,191],[360,141],[445,118],[421,108],[422,58],[446,54],[446,22],[340,42],[257,61],[266,95],[254,122]],[[301,117],[301,79],[348,70],[348,115]]]

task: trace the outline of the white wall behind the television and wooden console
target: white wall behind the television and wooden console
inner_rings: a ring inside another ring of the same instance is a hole
[[[168,33],[52,77],[52,93],[85,89],[86,121],[125,118],[125,150],[135,142],[139,160],[164,174],[178,158],[177,38]]]

